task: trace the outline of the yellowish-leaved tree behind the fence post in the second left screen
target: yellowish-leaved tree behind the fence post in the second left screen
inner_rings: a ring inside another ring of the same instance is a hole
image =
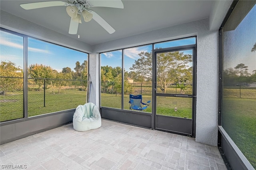
[[[38,90],[40,91],[41,86],[44,84],[44,79],[53,78],[54,73],[52,67],[36,63],[28,67],[28,77],[35,78],[34,82],[38,85]]]

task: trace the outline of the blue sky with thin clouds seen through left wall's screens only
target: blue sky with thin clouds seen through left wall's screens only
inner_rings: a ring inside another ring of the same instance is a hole
[[[12,61],[23,68],[23,38],[2,31],[0,36],[0,60]],[[82,64],[84,60],[87,53],[28,38],[28,66],[38,63],[57,71],[64,67],[74,70],[76,61]]]

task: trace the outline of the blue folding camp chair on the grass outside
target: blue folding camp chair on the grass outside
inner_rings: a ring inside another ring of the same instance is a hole
[[[150,104],[150,101],[147,103],[142,102],[142,95],[130,95],[130,110],[144,111]]]

